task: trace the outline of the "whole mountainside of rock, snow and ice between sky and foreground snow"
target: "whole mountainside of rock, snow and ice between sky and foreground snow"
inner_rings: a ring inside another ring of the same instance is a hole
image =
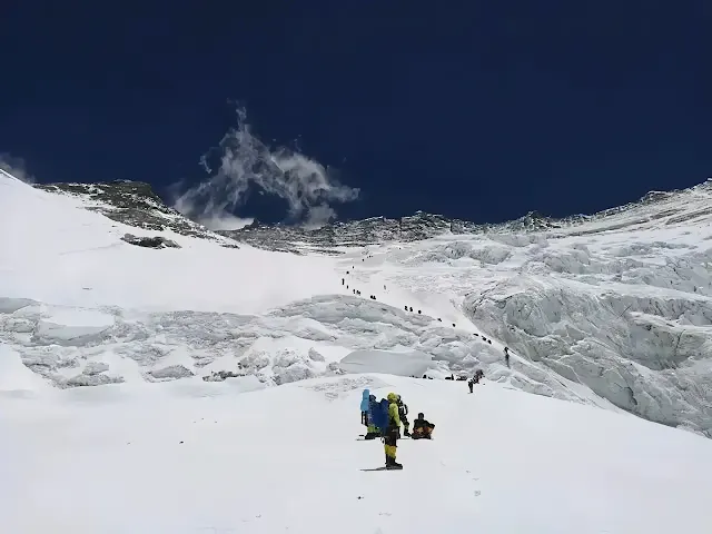
[[[710,181],[562,220],[418,212],[224,235],[112,184],[0,176],[0,342],[28,384],[482,368],[712,435]]]

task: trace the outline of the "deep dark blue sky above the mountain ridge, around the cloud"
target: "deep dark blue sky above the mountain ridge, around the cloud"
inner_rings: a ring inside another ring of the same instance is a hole
[[[0,7],[0,152],[41,181],[202,179],[228,99],[360,188],[346,218],[592,212],[712,176],[708,0],[80,3]]]

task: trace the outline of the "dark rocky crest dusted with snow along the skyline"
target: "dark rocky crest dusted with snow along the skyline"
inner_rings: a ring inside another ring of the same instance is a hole
[[[96,209],[107,217],[129,226],[147,229],[170,227],[174,231],[196,237],[212,238],[212,233],[201,225],[186,219],[175,209],[167,207],[151,186],[145,182],[118,180],[98,184],[48,184],[36,187],[53,192],[80,196],[95,202]],[[388,240],[413,241],[428,239],[443,234],[485,233],[533,233],[567,231],[592,222],[610,222],[604,229],[640,226],[653,220],[674,225],[685,220],[712,216],[712,207],[705,206],[712,199],[712,178],[694,187],[673,191],[650,191],[640,200],[623,206],[604,209],[593,215],[575,215],[561,219],[543,216],[537,211],[501,224],[475,224],[442,215],[416,211],[412,216],[396,219],[372,217],[362,220],[328,222],[317,229],[299,226],[268,225],[255,220],[239,229],[217,230],[216,234],[237,241],[271,249],[301,254],[305,248],[325,254],[334,254],[334,247],[375,245]],[[625,219],[625,220],[621,220]],[[601,231],[601,228],[582,231]]]

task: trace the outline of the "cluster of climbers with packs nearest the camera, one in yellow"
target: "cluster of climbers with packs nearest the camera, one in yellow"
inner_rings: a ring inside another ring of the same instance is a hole
[[[408,422],[408,406],[400,395],[389,393],[386,398],[376,402],[376,396],[368,389],[364,389],[360,400],[360,422],[366,427],[365,439],[383,442],[386,454],[386,469],[402,469],[403,464],[396,462],[398,439],[400,439],[400,425],[403,435],[411,439],[431,439],[435,425],[425,419],[421,412],[413,422],[413,434]]]

